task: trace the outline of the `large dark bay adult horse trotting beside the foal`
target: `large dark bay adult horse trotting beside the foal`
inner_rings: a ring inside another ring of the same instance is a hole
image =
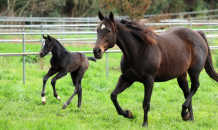
[[[111,93],[111,100],[118,114],[133,118],[130,110],[120,107],[117,95],[135,81],[141,82],[144,84],[142,126],[147,126],[154,82],[177,78],[186,99],[182,105],[181,116],[185,121],[193,120],[191,101],[200,85],[200,72],[205,68],[207,74],[218,82],[218,73],[213,68],[205,34],[185,27],[172,27],[156,34],[149,26],[138,22],[114,19],[113,13],[104,17],[99,11],[98,15],[101,23],[93,48],[95,57],[100,59],[115,44],[123,52],[120,63],[122,74]],[[187,74],[190,76],[191,89],[188,87]]]

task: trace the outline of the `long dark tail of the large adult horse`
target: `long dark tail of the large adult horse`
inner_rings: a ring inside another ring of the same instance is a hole
[[[210,78],[214,79],[215,81],[218,82],[218,73],[214,70],[213,64],[212,64],[212,58],[211,58],[211,53],[210,53],[210,48],[208,46],[208,42],[206,39],[206,36],[203,31],[197,31],[204,39],[204,41],[207,44],[208,48],[208,53],[207,53],[207,59],[204,65],[204,69],[206,70],[207,74],[210,76]]]

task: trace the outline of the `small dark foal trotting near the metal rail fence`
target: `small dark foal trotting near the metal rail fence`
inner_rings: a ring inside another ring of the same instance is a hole
[[[89,67],[89,61],[96,61],[94,57],[86,57],[82,53],[78,52],[69,52],[67,51],[58,40],[54,39],[53,37],[45,37],[43,35],[43,38],[45,39],[45,43],[43,45],[42,50],[39,52],[39,55],[41,58],[46,56],[49,52],[52,53],[52,57],[50,60],[51,68],[49,69],[48,73],[43,78],[43,87],[42,87],[42,102],[43,104],[46,103],[45,100],[45,85],[49,77],[56,74],[54,78],[51,80],[51,85],[53,87],[54,91],[54,97],[57,98],[57,100],[61,100],[61,98],[58,96],[56,89],[55,89],[55,83],[58,79],[61,77],[67,75],[68,72],[71,74],[71,78],[73,80],[73,84],[75,86],[75,90],[73,95],[70,97],[70,99],[67,100],[67,102],[63,105],[63,109],[65,109],[73,99],[73,97],[78,94],[78,107],[81,106],[82,102],[82,87],[81,82],[83,75],[85,74],[86,70]]]

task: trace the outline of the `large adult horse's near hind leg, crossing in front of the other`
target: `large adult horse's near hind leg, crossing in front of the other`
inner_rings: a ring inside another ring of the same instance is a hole
[[[189,71],[189,76],[190,76],[190,80],[191,80],[191,91],[190,91],[189,95],[187,96],[186,101],[182,105],[183,120],[188,120],[188,118],[189,118],[188,113],[186,112],[186,110],[187,110],[188,107],[191,106],[192,96],[197,92],[197,89],[198,89],[198,87],[200,85],[199,82],[198,82],[199,74],[200,74],[199,71],[194,71],[194,70]],[[191,109],[189,111],[192,111],[192,108],[189,108],[189,109]],[[185,115],[185,113],[187,113],[187,114]],[[194,119],[193,113],[190,113],[190,114],[191,114],[190,119],[193,120]]]

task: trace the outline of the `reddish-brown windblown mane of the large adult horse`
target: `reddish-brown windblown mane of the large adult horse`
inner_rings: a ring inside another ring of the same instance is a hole
[[[116,19],[114,23],[112,23],[108,17],[105,17],[105,20],[111,24],[115,32],[119,32],[121,30],[130,31],[133,36],[139,38],[145,44],[152,46],[157,43],[155,32],[150,26],[144,26],[142,23],[128,21],[125,19]]]

